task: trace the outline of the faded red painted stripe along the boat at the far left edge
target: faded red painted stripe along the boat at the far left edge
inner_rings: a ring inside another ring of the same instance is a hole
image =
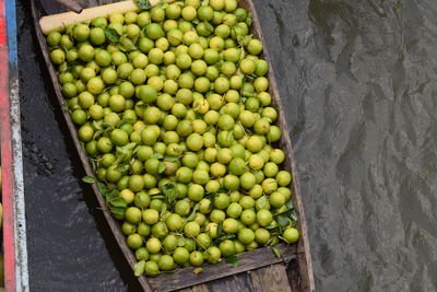
[[[9,101],[9,52],[7,43],[4,0],[0,0],[0,138],[3,202],[4,282],[8,292],[16,291],[15,232],[14,232],[14,175],[12,132]]]

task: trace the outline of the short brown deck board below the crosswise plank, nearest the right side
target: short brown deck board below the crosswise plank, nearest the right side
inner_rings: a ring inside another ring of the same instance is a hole
[[[276,264],[249,272],[250,291],[252,292],[294,292],[288,284],[285,265]]]

